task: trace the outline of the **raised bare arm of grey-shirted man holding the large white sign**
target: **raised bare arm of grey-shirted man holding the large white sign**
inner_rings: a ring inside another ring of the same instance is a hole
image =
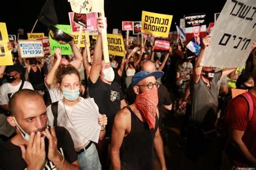
[[[196,63],[194,64],[194,69],[193,69],[193,82],[198,83],[200,80],[201,72],[203,69],[203,66],[200,66],[201,59],[203,57],[205,48],[210,44],[210,38],[212,35],[208,35],[203,38],[203,46],[201,47],[201,51],[197,57]]]

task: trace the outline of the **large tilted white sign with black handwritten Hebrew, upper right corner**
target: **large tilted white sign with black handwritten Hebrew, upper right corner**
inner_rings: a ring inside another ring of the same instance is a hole
[[[215,23],[200,66],[241,67],[256,40],[255,0],[228,0]]]

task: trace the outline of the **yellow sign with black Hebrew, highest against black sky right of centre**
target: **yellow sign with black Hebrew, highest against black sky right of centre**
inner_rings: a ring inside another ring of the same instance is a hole
[[[168,37],[172,15],[142,11],[142,32],[157,37]]]

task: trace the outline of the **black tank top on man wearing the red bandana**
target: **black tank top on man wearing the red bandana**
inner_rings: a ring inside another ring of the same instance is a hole
[[[142,122],[131,112],[131,132],[124,137],[120,148],[121,169],[151,170],[154,169],[154,134],[158,128],[158,117],[156,114],[156,126],[149,128],[147,122]]]

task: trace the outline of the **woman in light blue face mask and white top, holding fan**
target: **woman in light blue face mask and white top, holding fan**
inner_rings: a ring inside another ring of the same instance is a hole
[[[56,86],[63,94],[63,99],[58,101],[57,125],[64,126],[69,130],[73,139],[75,150],[78,155],[78,162],[81,169],[101,169],[98,152],[92,141],[83,137],[72,123],[72,110],[76,104],[85,100],[79,97],[80,76],[78,70],[72,65],[60,65],[56,72]],[[91,109],[91,108],[88,108]],[[54,117],[51,105],[47,108],[48,125],[53,125]],[[105,136],[105,125],[107,124],[106,115],[98,117],[98,123],[102,126],[99,140]]]

